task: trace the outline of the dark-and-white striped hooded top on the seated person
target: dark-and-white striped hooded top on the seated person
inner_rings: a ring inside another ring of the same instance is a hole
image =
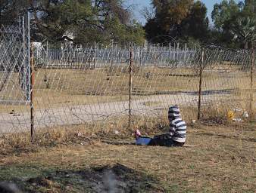
[[[178,106],[170,106],[168,111],[170,135],[176,142],[186,142],[186,123],[182,120]]]

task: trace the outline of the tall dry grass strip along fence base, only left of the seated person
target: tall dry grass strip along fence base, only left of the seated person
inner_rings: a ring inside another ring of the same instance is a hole
[[[133,127],[150,130],[158,129],[158,125],[167,125],[167,118],[136,117],[133,118]],[[120,134],[116,135],[115,130]],[[55,146],[60,143],[79,143],[84,140],[104,138],[129,138],[133,131],[128,129],[128,118],[110,118],[106,121],[95,121],[83,125],[60,126],[36,130],[36,139],[31,144],[30,133],[2,133],[0,135],[0,153],[20,153],[30,151],[34,147]]]

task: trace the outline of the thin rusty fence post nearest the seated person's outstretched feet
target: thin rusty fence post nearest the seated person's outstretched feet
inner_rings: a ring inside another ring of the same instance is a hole
[[[133,92],[133,49],[130,47],[129,51],[129,119],[128,119],[128,127],[130,130],[132,130],[132,92]]]

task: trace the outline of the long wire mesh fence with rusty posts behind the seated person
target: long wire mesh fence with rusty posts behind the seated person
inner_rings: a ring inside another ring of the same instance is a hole
[[[35,49],[30,92],[23,28],[16,33],[1,28],[1,132],[30,129],[31,104],[17,101],[30,101],[31,93],[35,128],[95,122],[103,129],[117,122],[126,128],[128,120],[136,127],[139,118],[157,122],[174,104],[186,121],[226,115],[230,109],[251,113],[255,107],[254,53],[216,47]]]

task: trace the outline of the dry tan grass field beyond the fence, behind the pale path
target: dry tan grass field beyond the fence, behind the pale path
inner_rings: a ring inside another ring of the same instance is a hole
[[[126,64],[86,70],[37,69],[35,109],[126,101],[129,90],[129,74],[127,72]],[[9,100],[22,98],[17,84],[17,73],[14,73],[11,79],[12,81],[9,82],[5,90],[2,90],[0,96],[2,99]],[[215,65],[214,69],[204,69],[203,108],[208,109],[208,106],[211,106],[220,109],[220,106],[224,106],[225,112],[233,107],[248,110],[250,93],[254,92],[254,90],[250,90],[249,79],[248,72],[239,70],[238,67]],[[254,81],[254,88],[256,88],[256,81]],[[205,92],[207,90],[209,92]],[[180,96],[184,100],[186,100],[186,94],[195,96],[195,99],[198,97],[198,76],[195,75],[194,69],[141,68],[135,66],[133,100],[147,99],[151,96],[158,96],[158,94],[170,96],[176,92],[184,92],[185,95]],[[256,101],[255,92],[252,94],[252,98]],[[208,96],[214,96],[214,98],[209,101]],[[161,106],[162,102],[165,102],[164,97],[159,101],[146,102],[146,105],[152,106],[154,104],[155,106],[158,103]],[[194,108],[190,106],[191,104],[187,104],[186,108]],[[29,112],[29,106],[2,103],[0,112]],[[189,113],[187,114],[189,115]],[[204,111],[203,114],[207,113]],[[190,117],[195,118],[195,113]]]

